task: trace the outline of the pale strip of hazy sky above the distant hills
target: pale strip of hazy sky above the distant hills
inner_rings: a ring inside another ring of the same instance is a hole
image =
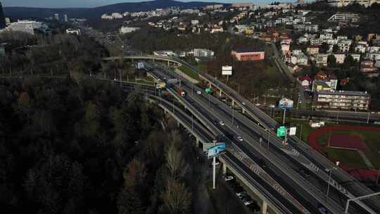
[[[67,8],[67,7],[95,7],[120,2],[148,1],[148,0],[0,0],[3,6],[28,6],[44,8]],[[214,1],[214,2],[252,2],[255,4],[272,2],[272,0],[192,0],[192,1]],[[274,0],[273,0],[274,1]]]

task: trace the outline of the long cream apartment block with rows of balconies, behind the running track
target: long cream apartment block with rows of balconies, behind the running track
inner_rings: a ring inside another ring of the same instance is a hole
[[[316,108],[367,111],[371,96],[357,91],[319,91],[315,95]]]

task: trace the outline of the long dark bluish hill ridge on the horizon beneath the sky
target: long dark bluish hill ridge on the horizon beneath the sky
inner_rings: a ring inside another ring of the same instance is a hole
[[[156,0],[142,2],[126,2],[119,4],[110,4],[96,8],[27,8],[27,7],[4,7],[4,13],[11,18],[47,18],[54,13],[68,14],[69,18],[100,18],[104,13],[124,13],[125,11],[151,11],[156,8],[167,8],[177,6],[179,8],[198,8],[213,2],[181,2],[172,0]]]

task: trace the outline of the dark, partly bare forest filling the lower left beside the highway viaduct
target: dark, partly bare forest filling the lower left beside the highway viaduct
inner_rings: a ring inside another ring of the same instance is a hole
[[[143,96],[70,77],[0,88],[4,213],[191,212],[194,147]]]

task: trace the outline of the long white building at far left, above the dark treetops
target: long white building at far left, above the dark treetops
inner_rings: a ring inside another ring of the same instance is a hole
[[[47,25],[42,22],[36,22],[34,20],[18,20],[17,23],[10,23],[1,32],[25,32],[34,35],[34,30],[47,29]]]

